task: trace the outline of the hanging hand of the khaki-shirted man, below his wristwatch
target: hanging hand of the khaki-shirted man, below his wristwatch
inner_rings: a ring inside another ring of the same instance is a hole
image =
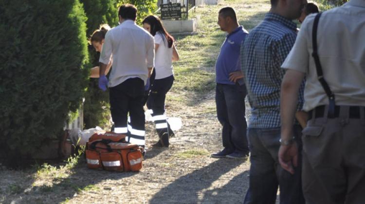
[[[281,145],[278,156],[280,166],[284,170],[294,174],[294,167],[298,166],[298,148],[296,142],[290,145]]]

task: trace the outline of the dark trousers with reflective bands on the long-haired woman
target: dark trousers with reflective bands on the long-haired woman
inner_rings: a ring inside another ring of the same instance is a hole
[[[167,123],[166,116],[164,115],[166,94],[173,83],[173,75],[163,79],[155,79],[147,99],[147,108],[152,109],[153,111],[151,114],[152,120],[155,122],[156,131],[160,137],[166,133],[169,136],[173,135],[173,132]]]

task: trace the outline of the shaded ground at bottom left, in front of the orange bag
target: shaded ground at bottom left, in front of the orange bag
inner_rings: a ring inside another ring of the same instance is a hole
[[[41,178],[41,180],[48,180],[48,182],[40,186],[34,185],[34,180],[23,183],[22,185],[27,185],[27,187],[23,187],[21,192],[5,197],[4,203],[62,203],[83,190],[92,189],[95,184],[102,181],[119,180],[138,173],[91,170],[86,167],[84,160],[81,160],[70,171],[67,176],[62,176],[62,173],[45,175],[45,178]],[[111,189],[104,187],[102,190]]]

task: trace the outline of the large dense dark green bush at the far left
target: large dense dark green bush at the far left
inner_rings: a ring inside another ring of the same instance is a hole
[[[0,153],[20,156],[56,138],[80,106],[87,18],[78,0],[0,5]]]

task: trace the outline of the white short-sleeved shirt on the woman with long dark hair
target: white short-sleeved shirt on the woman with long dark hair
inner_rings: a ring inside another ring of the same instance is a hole
[[[163,79],[174,74],[172,69],[172,47],[168,48],[168,43],[164,34],[155,34],[155,44],[159,45],[155,56],[155,79]]]

